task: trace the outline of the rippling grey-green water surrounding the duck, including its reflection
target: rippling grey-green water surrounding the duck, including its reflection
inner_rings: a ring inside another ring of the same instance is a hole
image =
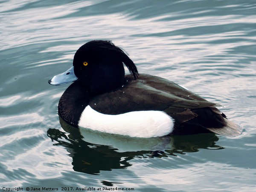
[[[2,0],[0,20],[0,190],[256,191],[254,0]],[[67,85],[47,81],[95,39],[124,48],[140,73],[224,105],[243,134],[128,140],[67,133],[57,115]]]

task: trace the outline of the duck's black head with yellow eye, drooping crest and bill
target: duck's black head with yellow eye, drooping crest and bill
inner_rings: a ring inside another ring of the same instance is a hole
[[[123,64],[136,79],[137,68],[122,49],[111,41],[90,41],[76,51],[73,66],[54,76],[49,80],[49,84],[61,85],[79,81],[93,94],[104,93],[124,83]]]

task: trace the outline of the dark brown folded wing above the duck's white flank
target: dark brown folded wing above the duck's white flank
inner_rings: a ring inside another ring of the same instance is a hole
[[[96,111],[113,115],[130,111],[165,111],[180,122],[197,116],[191,109],[216,106],[160,77],[142,74],[137,80],[131,76],[126,78],[127,82],[120,89],[93,97],[89,105]]]

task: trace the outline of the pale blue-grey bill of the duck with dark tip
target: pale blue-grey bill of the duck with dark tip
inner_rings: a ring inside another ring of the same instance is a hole
[[[74,73],[74,66],[72,66],[69,70],[64,73],[61,73],[57,76],[52,77],[48,82],[52,85],[62,85],[67,84],[73,81],[76,81],[78,78]]]

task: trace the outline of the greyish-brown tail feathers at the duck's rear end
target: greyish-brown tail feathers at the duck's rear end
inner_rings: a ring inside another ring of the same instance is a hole
[[[233,123],[232,121],[224,118],[226,122],[226,126],[222,128],[207,128],[209,131],[212,131],[215,134],[219,134],[225,137],[235,137],[242,133],[242,128],[237,125],[236,123]]]

